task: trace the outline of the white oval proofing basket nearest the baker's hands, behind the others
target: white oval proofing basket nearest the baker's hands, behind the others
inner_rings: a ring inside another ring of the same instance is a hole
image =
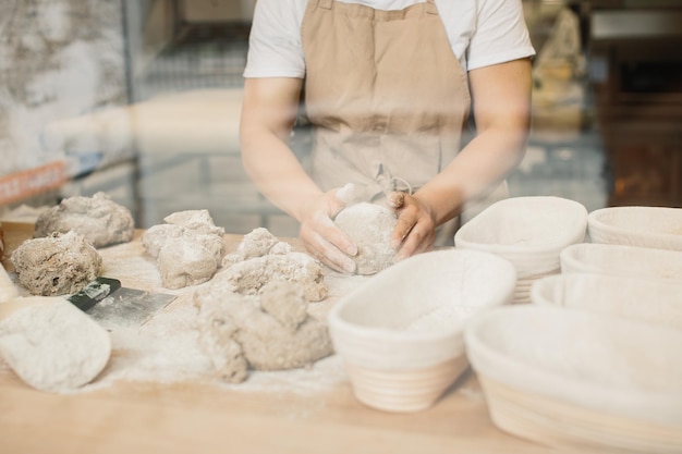
[[[585,241],[587,209],[561,197],[500,200],[465,223],[454,235],[456,248],[494,253],[512,262],[519,278],[513,303],[529,302],[529,286],[560,272],[559,253]]]

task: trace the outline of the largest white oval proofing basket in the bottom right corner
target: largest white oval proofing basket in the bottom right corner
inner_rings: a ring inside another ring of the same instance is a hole
[[[682,330],[535,305],[465,331],[496,426],[567,452],[682,452]]]

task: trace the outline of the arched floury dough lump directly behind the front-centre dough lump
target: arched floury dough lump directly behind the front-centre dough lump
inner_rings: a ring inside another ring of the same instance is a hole
[[[242,294],[256,294],[275,280],[295,283],[308,302],[319,302],[329,293],[322,266],[305,253],[269,254],[232,265],[223,262],[223,267],[214,280],[229,282]]]

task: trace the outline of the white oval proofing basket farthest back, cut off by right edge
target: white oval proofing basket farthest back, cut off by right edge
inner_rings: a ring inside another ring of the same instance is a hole
[[[601,208],[588,214],[587,231],[593,243],[682,250],[682,208]]]

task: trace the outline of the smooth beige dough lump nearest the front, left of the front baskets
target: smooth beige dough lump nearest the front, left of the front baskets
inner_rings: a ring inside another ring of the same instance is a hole
[[[214,280],[195,292],[194,302],[199,342],[226,381],[245,380],[248,367],[294,369],[332,353],[327,326],[307,314],[303,293],[292,282],[272,281],[260,295],[241,295],[228,282]]]

